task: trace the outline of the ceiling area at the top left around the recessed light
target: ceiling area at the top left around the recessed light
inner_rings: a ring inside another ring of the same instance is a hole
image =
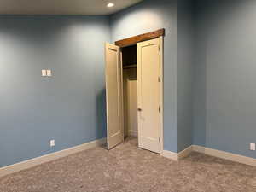
[[[0,15],[110,15],[143,0],[0,0]],[[107,3],[115,6],[107,8]]]

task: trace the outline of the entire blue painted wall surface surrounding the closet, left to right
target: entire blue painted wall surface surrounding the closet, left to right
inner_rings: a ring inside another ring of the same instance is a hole
[[[256,158],[255,10],[249,0],[144,0],[110,17],[0,16],[0,167],[106,137],[104,42],[162,27],[164,148]],[[53,77],[42,78],[47,68]]]

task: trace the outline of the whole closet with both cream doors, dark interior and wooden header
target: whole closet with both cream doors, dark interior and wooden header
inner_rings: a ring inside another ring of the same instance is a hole
[[[105,44],[108,150],[127,137],[163,151],[164,29]]]

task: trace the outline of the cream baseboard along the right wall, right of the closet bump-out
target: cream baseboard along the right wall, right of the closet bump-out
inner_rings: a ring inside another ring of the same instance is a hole
[[[216,150],[213,148],[205,148],[198,145],[193,145],[193,150],[203,154],[208,154],[214,157],[222,158],[225,160],[231,160],[238,163],[246,164],[248,166],[256,166],[256,159],[243,156],[240,154],[232,154],[225,151]]]

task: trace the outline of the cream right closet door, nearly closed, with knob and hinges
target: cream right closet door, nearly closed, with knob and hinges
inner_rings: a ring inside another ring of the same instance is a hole
[[[160,38],[137,44],[138,144],[160,153]]]

